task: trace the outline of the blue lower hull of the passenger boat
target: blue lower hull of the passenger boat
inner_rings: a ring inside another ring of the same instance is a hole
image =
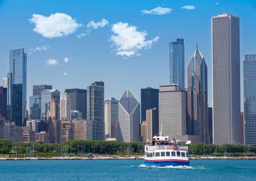
[[[189,166],[189,160],[144,160],[147,166]]]

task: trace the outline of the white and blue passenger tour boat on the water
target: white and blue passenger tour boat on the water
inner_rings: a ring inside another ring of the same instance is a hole
[[[145,145],[146,166],[189,166],[188,145],[191,141],[179,141],[160,134]]]

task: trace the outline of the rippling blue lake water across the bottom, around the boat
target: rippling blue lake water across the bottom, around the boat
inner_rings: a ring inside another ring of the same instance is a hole
[[[0,161],[0,180],[256,180],[256,160],[191,160],[157,168],[143,160]]]

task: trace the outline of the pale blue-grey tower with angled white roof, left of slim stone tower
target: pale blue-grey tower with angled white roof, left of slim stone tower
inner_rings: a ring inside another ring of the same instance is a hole
[[[41,120],[47,121],[49,116],[58,119],[59,97],[57,89],[46,89],[41,93]],[[51,111],[52,109],[52,111]]]

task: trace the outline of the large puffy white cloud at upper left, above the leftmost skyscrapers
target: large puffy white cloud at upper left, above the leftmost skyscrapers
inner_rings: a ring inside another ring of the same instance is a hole
[[[63,37],[73,34],[78,27],[82,26],[65,13],[51,14],[49,17],[33,14],[30,23],[34,23],[34,32],[42,35],[44,38]]]

